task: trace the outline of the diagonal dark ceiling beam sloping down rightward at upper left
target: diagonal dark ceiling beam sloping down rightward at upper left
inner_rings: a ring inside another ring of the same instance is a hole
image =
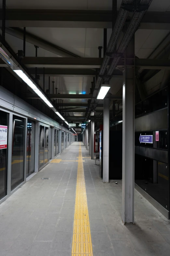
[[[15,36],[15,37],[23,40],[23,30],[21,28],[7,27],[5,29],[5,32],[9,35]],[[25,41],[28,43],[32,43],[36,46],[39,46],[42,49],[45,49],[49,52],[55,53],[62,57],[79,57],[74,53],[64,50],[61,47],[59,47],[53,43],[50,43],[42,38],[39,38],[31,33],[28,33],[28,32],[26,32]]]

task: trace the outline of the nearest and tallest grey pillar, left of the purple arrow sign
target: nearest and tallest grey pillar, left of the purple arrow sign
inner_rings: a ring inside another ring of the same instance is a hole
[[[122,221],[134,223],[134,173],[135,173],[135,63],[126,66],[126,58],[135,62],[135,36],[125,52],[123,71],[123,138],[122,138]]]

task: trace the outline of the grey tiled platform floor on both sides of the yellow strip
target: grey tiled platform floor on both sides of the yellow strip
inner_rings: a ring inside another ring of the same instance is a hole
[[[78,160],[78,149],[57,158]],[[93,256],[170,255],[170,222],[135,191],[135,225],[124,226],[121,181],[103,184],[95,161],[83,160]],[[50,163],[0,205],[0,256],[71,256],[77,167]]]

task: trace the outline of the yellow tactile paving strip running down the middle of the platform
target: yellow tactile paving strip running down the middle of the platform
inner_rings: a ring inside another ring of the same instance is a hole
[[[79,144],[72,256],[92,256],[92,239],[87,207],[81,144]]]

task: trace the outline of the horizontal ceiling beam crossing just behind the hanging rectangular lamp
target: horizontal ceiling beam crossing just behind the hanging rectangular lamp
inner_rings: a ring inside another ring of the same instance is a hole
[[[52,99],[92,99],[92,94],[47,94],[48,98]],[[26,94],[28,99],[39,99],[37,94]],[[107,94],[106,99],[121,100],[122,95]]]

